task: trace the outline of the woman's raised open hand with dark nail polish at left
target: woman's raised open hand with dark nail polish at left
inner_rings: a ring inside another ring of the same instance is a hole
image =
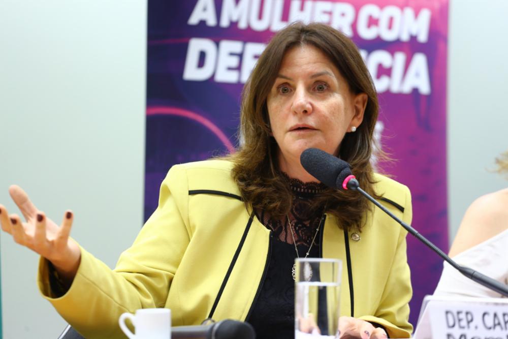
[[[0,205],[0,223],[2,230],[11,234],[14,241],[49,260],[63,282],[70,286],[79,267],[81,250],[78,244],[69,238],[73,213],[67,210],[58,227],[51,219],[39,211],[28,195],[19,186],[9,188],[9,194],[23,214],[23,223],[17,214],[8,214]]]

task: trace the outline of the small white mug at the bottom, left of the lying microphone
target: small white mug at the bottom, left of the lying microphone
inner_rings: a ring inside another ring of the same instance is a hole
[[[132,321],[136,334],[125,325],[125,319]],[[124,313],[118,319],[118,324],[130,339],[171,339],[171,310],[169,309],[140,309],[135,315]]]

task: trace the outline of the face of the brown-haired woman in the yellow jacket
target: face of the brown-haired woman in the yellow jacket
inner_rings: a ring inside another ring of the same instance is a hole
[[[311,45],[288,50],[267,98],[280,169],[290,174],[309,147],[338,155],[345,133],[360,126],[366,104],[367,95],[351,93],[321,50]]]

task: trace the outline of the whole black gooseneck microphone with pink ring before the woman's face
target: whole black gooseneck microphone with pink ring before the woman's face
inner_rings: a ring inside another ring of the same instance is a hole
[[[472,268],[461,266],[451,259],[446,253],[441,251],[436,245],[421,235],[416,229],[404,223],[390,212],[385,206],[380,204],[376,199],[372,198],[367,192],[360,188],[360,183],[351,172],[350,164],[340,160],[331,154],[317,148],[308,148],[302,152],[300,163],[303,168],[309,172],[317,180],[320,180],[326,186],[339,190],[352,190],[360,192],[365,198],[370,200],[374,205],[382,209],[385,213],[399,223],[407,232],[414,235],[418,240],[423,242],[428,248],[437,253],[444,261],[448,262],[460,273],[467,278],[483,285],[497,293],[508,297],[508,286],[490,278],[489,276],[475,271]]]

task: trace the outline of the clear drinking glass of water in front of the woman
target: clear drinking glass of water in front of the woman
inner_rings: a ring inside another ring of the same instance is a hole
[[[338,338],[342,262],[302,258],[295,264],[295,338]]]

